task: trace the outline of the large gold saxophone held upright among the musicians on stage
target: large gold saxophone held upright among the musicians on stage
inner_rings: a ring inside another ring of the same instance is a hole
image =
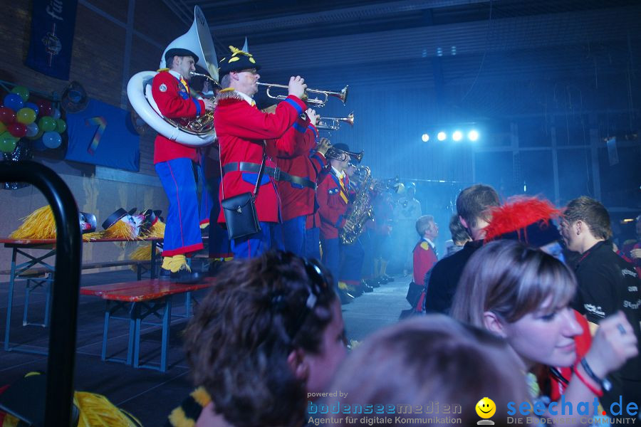
[[[365,231],[365,223],[374,218],[374,209],[370,199],[370,186],[372,186],[372,172],[366,166],[358,167],[360,186],[353,203],[348,207],[345,227],[340,230],[340,241],[351,245],[358,236]]]

